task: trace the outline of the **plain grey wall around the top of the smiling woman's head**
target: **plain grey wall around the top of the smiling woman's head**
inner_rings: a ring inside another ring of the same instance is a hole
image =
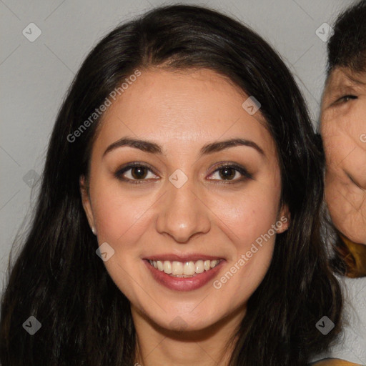
[[[12,242],[31,218],[56,113],[81,62],[104,34],[152,6],[178,1],[0,0],[0,291]],[[325,81],[327,29],[352,0],[185,1],[244,21],[295,74],[317,124]],[[41,35],[31,42],[34,23]],[[324,34],[317,36],[316,31]],[[28,36],[28,34],[27,34]],[[31,36],[29,34],[29,36]],[[322,38],[322,39],[321,39]],[[33,187],[33,189],[32,189]],[[16,254],[16,251],[14,251]]]

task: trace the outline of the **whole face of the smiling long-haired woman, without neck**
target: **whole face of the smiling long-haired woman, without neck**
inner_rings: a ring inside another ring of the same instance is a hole
[[[90,195],[82,179],[81,193],[135,321],[144,314],[165,329],[204,329],[244,315],[263,280],[287,212],[274,141],[260,110],[242,107],[247,98],[214,71],[151,69],[104,114]],[[181,270],[198,273],[169,274]]]

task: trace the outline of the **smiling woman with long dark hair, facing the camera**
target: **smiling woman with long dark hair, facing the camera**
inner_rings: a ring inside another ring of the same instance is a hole
[[[342,306],[322,164],[294,79],[246,26],[199,6],[119,26],[56,119],[2,364],[307,365]]]

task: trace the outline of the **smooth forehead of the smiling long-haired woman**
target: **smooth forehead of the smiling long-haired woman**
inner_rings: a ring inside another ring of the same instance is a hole
[[[242,107],[247,98],[239,86],[209,69],[142,71],[105,112],[96,143],[129,134],[177,148],[242,134],[272,148],[260,109],[250,115]]]

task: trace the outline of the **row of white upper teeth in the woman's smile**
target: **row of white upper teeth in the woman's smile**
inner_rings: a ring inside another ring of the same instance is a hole
[[[149,260],[150,264],[159,271],[165,272],[172,275],[187,275],[192,276],[195,273],[202,273],[214,268],[219,264],[218,259],[214,260],[202,260],[199,259],[197,262],[171,262],[169,260]]]

